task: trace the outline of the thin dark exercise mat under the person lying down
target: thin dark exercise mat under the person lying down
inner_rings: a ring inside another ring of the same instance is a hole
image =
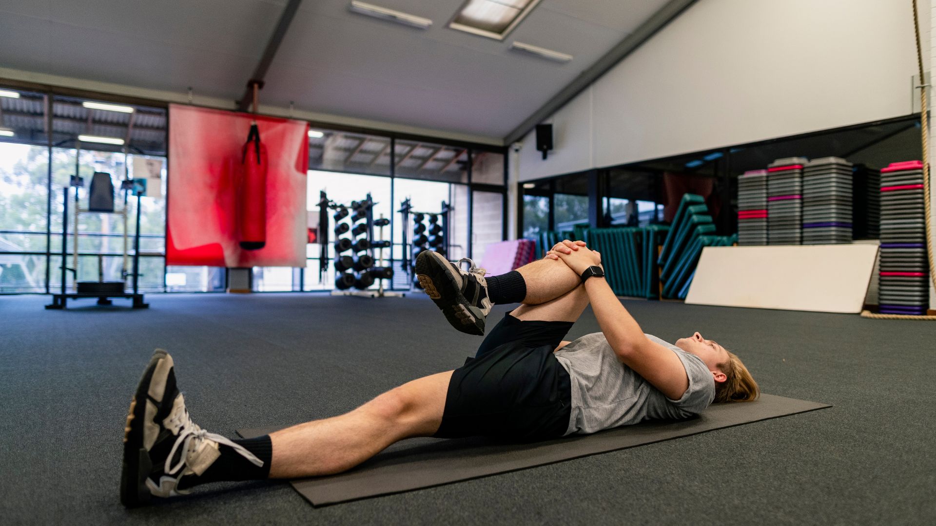
[[[826,407],[831,406],[761,395],[755,402],[713,404],[701,416],[689,420],[642,422],[534,444],[498,444],[480,437],[448,440],[414,438],[389,446],[373,459],[343,474],[293,480],[290,484],[313,505],[344,503],[578,459]],[[284,427],[237,432],[241,437],[252,438]]]

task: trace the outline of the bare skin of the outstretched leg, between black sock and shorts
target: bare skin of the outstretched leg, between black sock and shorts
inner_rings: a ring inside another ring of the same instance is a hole
[[[342,416],[272,433],[270,477],[341,473],[404,438],[431,436],[442,423],[451,376],[451,371],[425,376]]]

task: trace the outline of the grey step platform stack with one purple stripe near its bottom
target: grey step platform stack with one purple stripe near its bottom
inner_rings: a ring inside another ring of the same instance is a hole
[[[852,242],[852,163],[822,157],[803,169],[803,244]]]

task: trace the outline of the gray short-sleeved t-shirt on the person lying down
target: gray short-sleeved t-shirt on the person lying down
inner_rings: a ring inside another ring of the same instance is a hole
[[[618,359],[604,334],[588,334],[555,354],[572,385],[572,416],[565,434],[591,433],[650,419],[687,418],[709,407],[715,398],[715,380],[705,363],[676,345],[646,336],[680,357],[689,377],[689,388],[682,398],[666,398]]]

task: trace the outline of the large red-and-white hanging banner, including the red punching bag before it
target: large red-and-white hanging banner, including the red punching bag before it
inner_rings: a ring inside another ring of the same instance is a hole
[[[305,267],[308,129],[170,105],[167,264]]]

